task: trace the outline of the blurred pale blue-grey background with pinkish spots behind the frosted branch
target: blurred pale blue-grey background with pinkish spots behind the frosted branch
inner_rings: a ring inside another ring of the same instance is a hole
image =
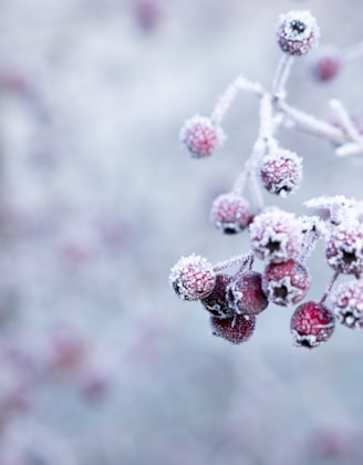
[[[182,255],[248,251],[210,203],[229,189],[258,131],[240,94],[228,141],[205,161],[179,146],[243,72],[269,86],[280,13],[311,9],[321,45],[362,40],[361,0],[0,1],[0,465],[298,465],[363,462],[363,334],[338,328],[292,347],[292,309],[269,307],[246,344],[168,286]],[[319,82],[297,60],[290,103],[363,117],[363,59]],[[297,195],[360,198],[363,158],[295,131]],[[323,250],[309,260],[320,298]]]

